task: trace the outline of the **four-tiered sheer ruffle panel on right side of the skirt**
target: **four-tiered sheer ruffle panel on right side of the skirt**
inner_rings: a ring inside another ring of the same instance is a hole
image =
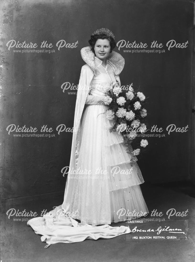
[[[131,154],[124,146],[124,139],[117,131],[110,133],[113,120],[105,117],[102,154],[107,158],[110,174],[109,191],[112,222],[131,220],[149,213],[140,184],[144,183],[138,164],[131,162]]]

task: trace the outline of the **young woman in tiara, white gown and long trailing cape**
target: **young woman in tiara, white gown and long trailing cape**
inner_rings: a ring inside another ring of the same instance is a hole
[[[109,132],[113,120],[108,120],[104,114],[110,103],[107,92],[120,85],[119,74],[124,67],[124,58],[113,51],[114,35],[108,29],[93,32],[89,44],[90,47],[81,49],[86,64],[81,69],[77,90],[64,202],[51,211],[52,226],[62,225],[60,221],[68,218],[68,226],[70,223],[73,226],[75,223],[77,226],[84,224],[85,229],[86,226],[89,231],[93,228],[96,233],[97,228],[104,228],[107,230],[106,238],[109,238],[130,232],[128,227],[123,226],[114,232],[112,229],[115,227],[109,224],[147,215],[149,211],[139,185],[144,182],[140,169],[136,163],[133,167],[130,165],[131,155],[123,145],[122,135]],[[46,221],[48,226],[47,220],[48,216],[43,216],[42,224]],[[28,225],[36,233],[46,236],[42,241],[51,243],[49,231],[43,232],[43,225],[37,228],[36,222],[28,221]],[[57,236],[57,231],[53,236]],[[105,232],[101,237],[104,236]],[[52,243],[55,241],[56,238]],[[63,238],[57,242],[66,243]]]

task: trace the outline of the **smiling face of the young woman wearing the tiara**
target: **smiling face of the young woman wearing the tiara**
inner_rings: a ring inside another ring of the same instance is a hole
[[[98,39],[94,46],[96,57],[101,60],[106,60],[110,54],[110,41],[108,39]]]

